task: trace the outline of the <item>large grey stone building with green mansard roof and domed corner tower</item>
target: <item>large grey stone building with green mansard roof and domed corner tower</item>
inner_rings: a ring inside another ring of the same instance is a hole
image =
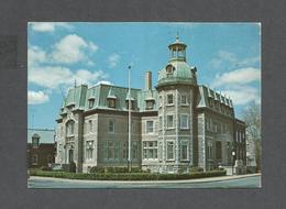
[[[128,166],[129,105],[131,165],[154,173],[211,170],[245,165],[245,123],[235,119],[233,103],[197,84],[197,68],[186,61],[187,45],[177,37],[168,45],[169,61],[145,74],[145,89],[99,84],[70,88],[57,118],[57,164]],[[238,162],[238,161],[237,161]]]

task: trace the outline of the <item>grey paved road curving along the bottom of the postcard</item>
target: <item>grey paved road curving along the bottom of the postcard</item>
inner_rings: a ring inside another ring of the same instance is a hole
[[[29,188],[258,188],[261,176],[248,176],[238,179],[216,182],[148,182],[148,183],[120,183],[120,182],[92,182],[68,180],[31,177]]]

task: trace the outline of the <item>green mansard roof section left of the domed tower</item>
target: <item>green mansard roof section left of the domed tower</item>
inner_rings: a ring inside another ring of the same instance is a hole
[[[108,98],[116,100],[116,108],[108,107]],[[66,109],[70,106],[74,110],[79,109],[84,111],[90,109],[116,109],[124,111],[127,110],[125,101],[129,98],[135,102],[135,111],[145,111],[146,100],[154,100],[153,110],[157,110],[157,91],[155,89],[141,90],[131,88],[131,94],[129,95],[129,88],[99,84],[91,88],[87,88],[86,85],[70,88],[59,113],[65,113]],[[90,108],[89,100],[91,99],[94,100],[94,107]]]

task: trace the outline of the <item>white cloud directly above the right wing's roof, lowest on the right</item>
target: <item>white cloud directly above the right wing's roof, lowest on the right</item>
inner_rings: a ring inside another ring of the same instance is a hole
[[[235,106],[243,106],[248,102],[255,101],[261,103],[261,95],[257,88],[252,86],[237,86],[230,90],[222,90],[222,95],[230,96]]]

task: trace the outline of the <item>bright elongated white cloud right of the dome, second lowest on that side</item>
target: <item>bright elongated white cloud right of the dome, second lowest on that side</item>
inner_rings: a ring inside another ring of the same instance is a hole
[[[253,67],[240,68],[233,72],[228,72],[222,75],[217,75],[212,81],[212,87],[223,85],[245,85],[261,80],[261,70]]]

